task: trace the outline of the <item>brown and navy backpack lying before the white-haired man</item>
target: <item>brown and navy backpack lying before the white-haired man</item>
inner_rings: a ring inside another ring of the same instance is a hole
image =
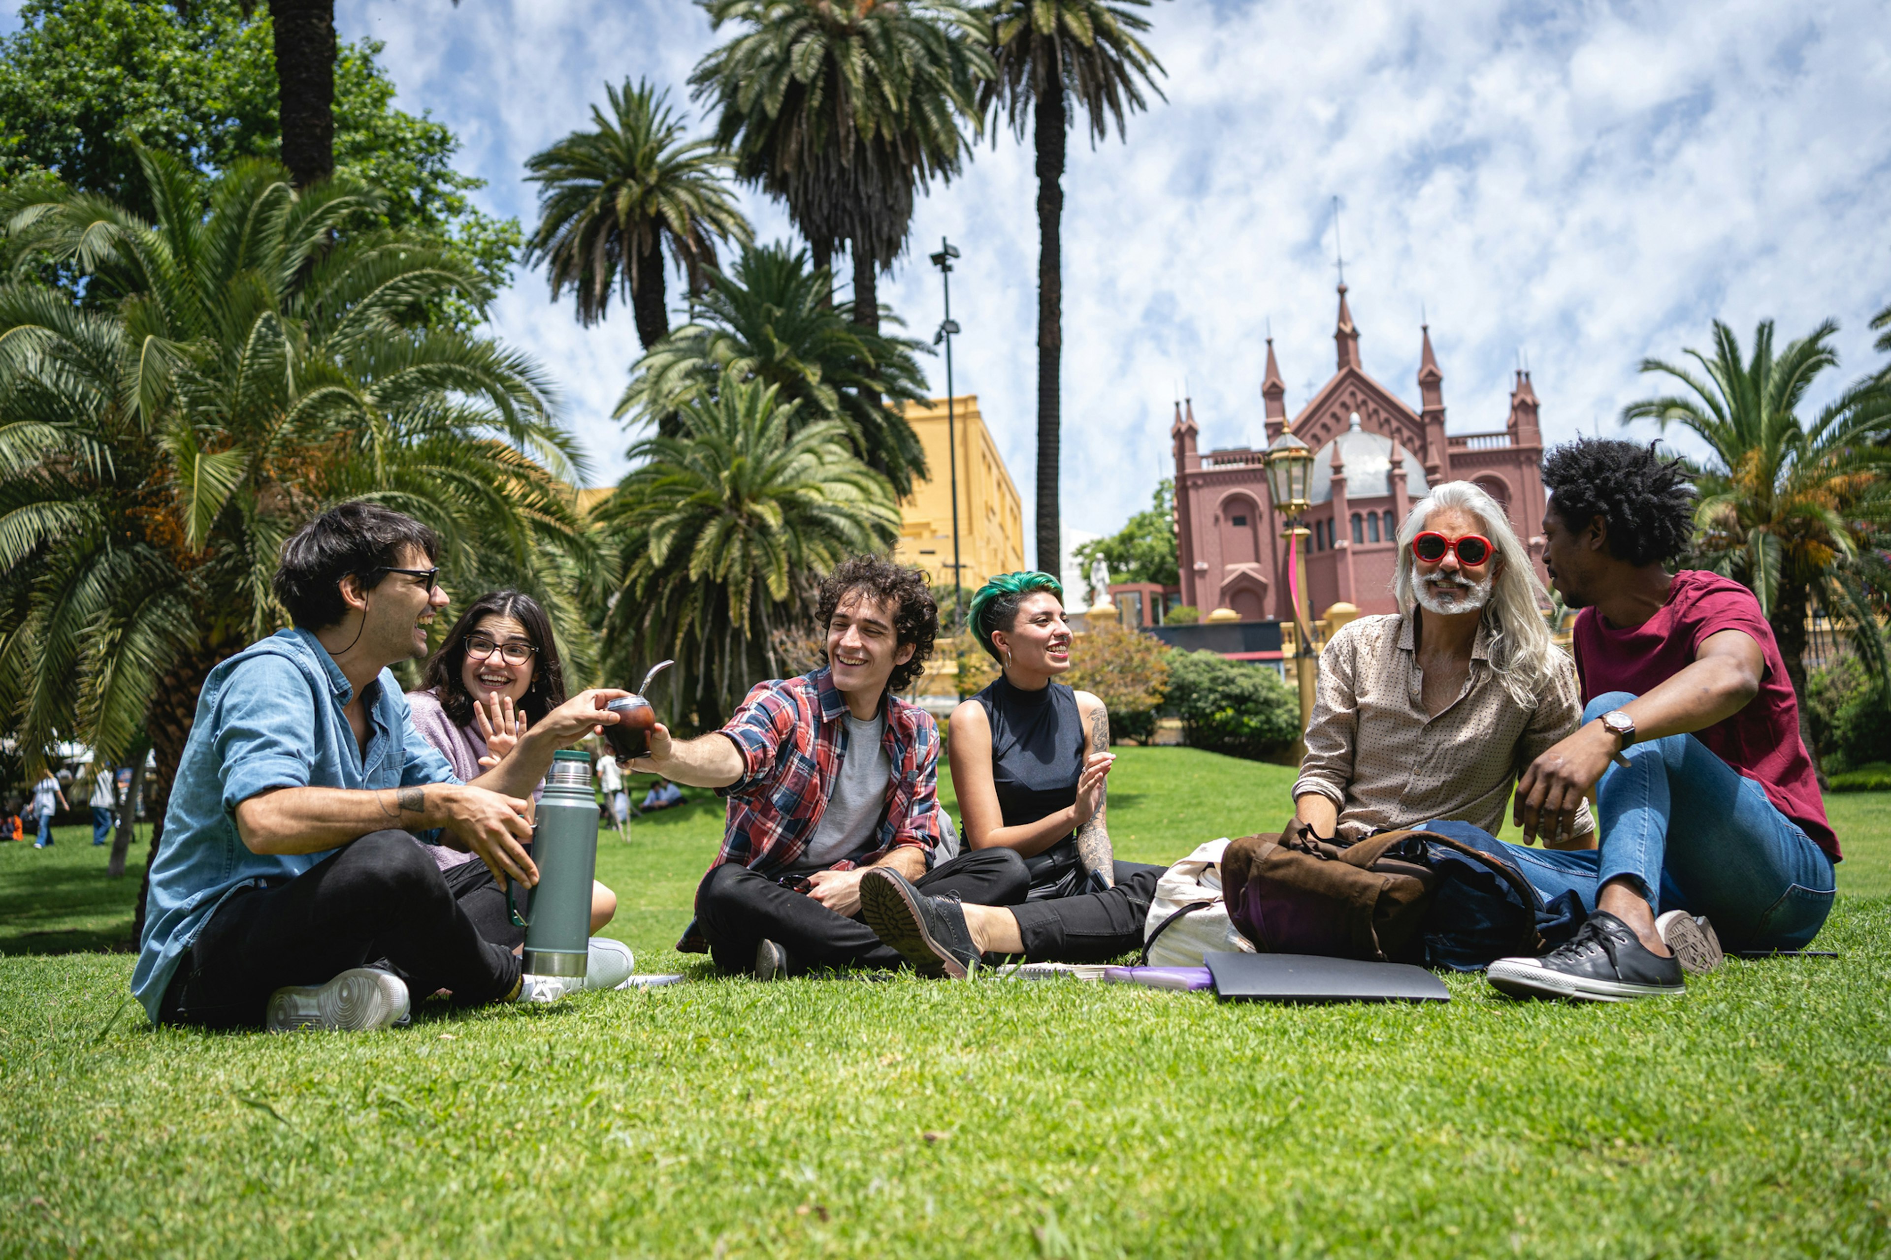
[[[1229,843],[1222,888],[1231,924],[1271,954],[1477,971],[1545,952],[1541,926],[1560,935],[1579,922],[1570,907],[1545,907],[1501,852],[1443,831],[1380,831],[1343,844],[1290,822],[1278,837]]]

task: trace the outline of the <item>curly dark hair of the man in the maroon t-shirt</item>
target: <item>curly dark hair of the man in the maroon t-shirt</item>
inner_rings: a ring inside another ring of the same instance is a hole
[[[1609,555],[1630,565],[1677,559],[1694,540],[1687,467],[1657,455],[1653,442],[1564,442],[1543,457],[1543,487],[1570,529],[1588,529],[1600,516],[1609,531]]]

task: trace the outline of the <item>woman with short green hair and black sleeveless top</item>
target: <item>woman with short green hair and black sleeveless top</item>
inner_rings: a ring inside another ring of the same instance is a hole
[[[953,710],[953,788],[968,848],[1015,850],[1029,899],[961,905],[876,869],[860,882],[868,926],[921,971],[955,977],[983,954],[1104,962],[1142,948],[1163,867],[1116,861],[1110,848],[1110,714],[1057,682],[1070,669],[1063,586],[1048,572],[998,574],[972,595],[970,625],[1000,674]]]

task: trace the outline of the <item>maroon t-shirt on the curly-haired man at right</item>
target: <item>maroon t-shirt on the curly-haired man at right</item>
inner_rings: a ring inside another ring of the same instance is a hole
[[[1575,614],[1575,671],[1583,703],[1607,691],[1647,695],[1694,663],[1708,635],[1747,633],[1766,657],[1761,693],[1732,718],[1694,731],[1713,756],[1766,790],[1766,799],[1838,861],[1838,837],[1825,822],[1819,780],[1798,737],[1798,699],[1785,674],[1779,644],[1753,591],[1698,569],[1674,574],[1668,603],[1641,625],[1605,625],[1594,608]]]

